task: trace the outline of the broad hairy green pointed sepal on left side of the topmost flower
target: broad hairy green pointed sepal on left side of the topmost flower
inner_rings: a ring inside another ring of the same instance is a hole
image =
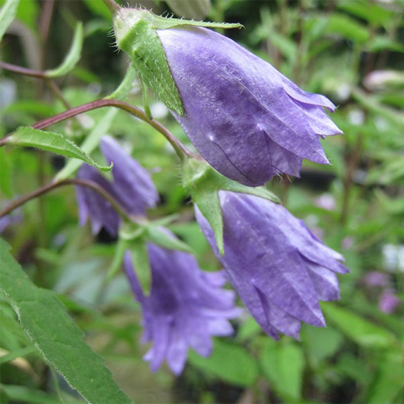
[[[123,37],[117,35],[117,43],[118,47],[128,54],[140,80],[150,87],[169,109],[183,115],[184,107],[168,67],[163,44],[150,21],[138,20]]]

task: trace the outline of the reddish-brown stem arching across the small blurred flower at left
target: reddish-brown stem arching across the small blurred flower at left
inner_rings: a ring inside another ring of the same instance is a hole
[[[82,186],[82,187],[87,187],[87,188],[92,189],[93,191],[100,194],[101,197],[103,197],[105,200],[107,200],[121,217],[126,218],[126,219],[128,219],[128,218],[131,219],[130,215],[125,211],[125,209],[121,206],[121,204],[119,202],[117,202],[115,200],[115,198],[113,198],[108,192],[106,192],[100,185],[98,185],[94,181],[88,181],[88,180],[77,179],[77,178],[69,178],[69,179],[64,179],[62,181],[51,182],[38,189],[35,189],[34,191],[30,192],[29,194],[11,202],[7,207],[5,207],[3,210],[0,211],[0,217],[8,215],[11,211],[13,211],[17,207],[23,205],[26,202],[29,202],[37,197],[40,197],[41,195],[44,195],[56,188],[63,187],[65,185],[76,185],[76,186]]]

